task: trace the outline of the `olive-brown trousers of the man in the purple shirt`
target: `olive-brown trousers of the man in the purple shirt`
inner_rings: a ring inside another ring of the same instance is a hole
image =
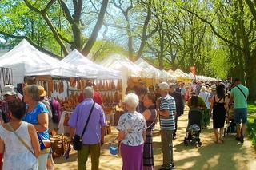
[[[91,169],[98,170],[99,156],[101,144],[83,144],[81,150],[78,151],[78,170],[86,169],[89,152],[91,158]]]

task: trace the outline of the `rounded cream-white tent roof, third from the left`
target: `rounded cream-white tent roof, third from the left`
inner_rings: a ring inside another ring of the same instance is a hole
[[[120,71],[125,74],[126,77],[150,77],[152,75],[147,75],[146,70],[142,69],[140,66],[134,64],[128,58],[120,54],[112,54],[110,57],[106,57],[101,65]]]

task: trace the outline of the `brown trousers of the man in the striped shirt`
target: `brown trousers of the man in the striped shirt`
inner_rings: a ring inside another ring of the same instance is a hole
[[[162,164],[164,168],[170,168],[171,164],[174,164],[173,132],[174,130],[161,130]]]

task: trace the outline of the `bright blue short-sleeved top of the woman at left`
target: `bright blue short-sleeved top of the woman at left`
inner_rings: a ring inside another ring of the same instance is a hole
[[[48,113],[48,109],[42,102],[38,102],[38,105],[34,108],[34,110],[26,113],[26,115],[23,117],[23,121],[33,125],[38,125],[38,115],[42,113]],[[48,129],[45,132],[38,132],[38,134],[44,140],[50,139]]]

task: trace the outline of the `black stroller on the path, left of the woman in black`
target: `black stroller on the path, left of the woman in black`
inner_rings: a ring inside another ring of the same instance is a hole
[[[194,141],[198,147],[202,145],[200,141],[200,132],[202,126],[202,109],[190,109],[189,122],[186,128],[186,137],[184,144],[189,145],[190,142]]]

